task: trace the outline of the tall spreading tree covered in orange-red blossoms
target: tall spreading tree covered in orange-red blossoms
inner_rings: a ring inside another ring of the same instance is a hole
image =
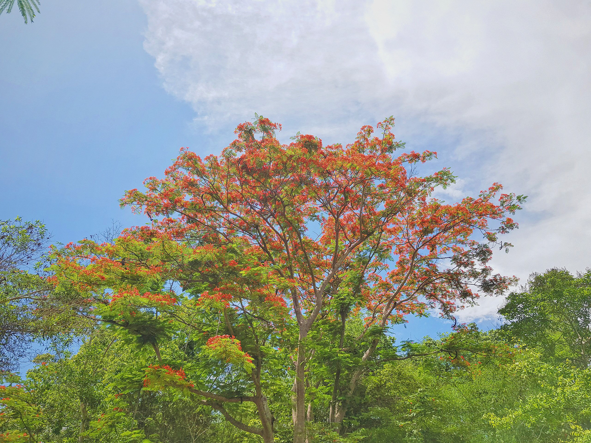
[[[340,369],[332,374],[329,420],[338,428],[389,325],[432,307],[451,316],[514,282],[487,263],[492,245],[511,246],[498,236],[517,227],[508,215],[523,197],[499,195],[501,185],[493,184],[456,204],[432,198],[436,187],[453,183],[452,173],[415,174],[436,153],[398,153],[404,144],[393,125],[392,118],[378,123],[379,136],[363,126],[346,146],[299,133],[286,145],[275,138],[281,126],[258,117],[239,125],[219,156],[181,149],[164,178],[150,177],[145,192],[122,199],[151,225],[112,244],[86,240],[56,250],[54,282],[85,294],[80,315],[154,348],[160,361],[148,369],[148,385],[165,376],[164,384],[265,442],[274,440],[268,395],[286,377],[293,381],[294,442],[306,441],[311,393],[324,383],[310,384],[319,358],[314,343],[332,324],[340,330],[333,347],[348,351],[345,323],[355,317],[364,348],[348,368],[344,395],[337,395]],[[187,327],[187,346],[201,346],[193,373],[187,364],[175,372],[186,357],[161,355],[179,325]],[[174,364],[163,369],[163,360]],[[232,415],[243,403],[254,405],[259,426]]]

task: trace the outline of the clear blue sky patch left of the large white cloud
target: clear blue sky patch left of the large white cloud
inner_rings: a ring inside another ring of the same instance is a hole
[[[145,15],[133,1],[47,2],[28,25],[17,14],[0,17],[0,217],[41,219],[59,242],[138,223],[123,191],[199,139],[142,48]]]

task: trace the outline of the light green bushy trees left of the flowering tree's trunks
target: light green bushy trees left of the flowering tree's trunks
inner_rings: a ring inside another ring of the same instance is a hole
[[[195,408],[174,390],[143,389],[153,353],[138,352],[108,328],[93,331],[75,354],[56,351],[37,356],[26,380],[5,377],[6,441],[181,443],[211,441],[217,430],[210,408]]]

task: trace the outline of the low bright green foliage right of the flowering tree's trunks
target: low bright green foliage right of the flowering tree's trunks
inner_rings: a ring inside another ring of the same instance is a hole
[[[587,374],[548,373],[527,350],[515,357],[476,372],[433,357],[387,364],[368,380],[366,442],[558,442],[589,429]]]

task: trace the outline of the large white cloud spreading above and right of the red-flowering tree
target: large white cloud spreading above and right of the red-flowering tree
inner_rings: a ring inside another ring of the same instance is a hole
[[[448,196],[491,181],[530,195],[499,271],[591,265],[589,2],[141,2],[166,89],[210,128],[256,111],[346,141],[411,116],[407,132],[451,133],[470,162]]]

